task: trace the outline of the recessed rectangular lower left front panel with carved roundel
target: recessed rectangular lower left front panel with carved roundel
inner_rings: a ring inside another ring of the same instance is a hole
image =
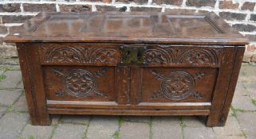
[[[114,68],[44,66],[45,92],[51,100],[114,101]]]

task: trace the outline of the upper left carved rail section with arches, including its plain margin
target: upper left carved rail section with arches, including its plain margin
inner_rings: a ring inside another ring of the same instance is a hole
[[[43,44],[39,48],[42,64],[116,65],[120,52],[108,44]]]

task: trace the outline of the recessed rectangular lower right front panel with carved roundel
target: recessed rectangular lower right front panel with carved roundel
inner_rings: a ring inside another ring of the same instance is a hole
[[[141,102],[211,102],[214,68],[144,68]]]

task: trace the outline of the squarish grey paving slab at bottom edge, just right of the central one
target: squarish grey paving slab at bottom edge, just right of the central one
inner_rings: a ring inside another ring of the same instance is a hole
[[[179,117],[152,118],[152,138],[182,138],[182,128],[180,126]]]

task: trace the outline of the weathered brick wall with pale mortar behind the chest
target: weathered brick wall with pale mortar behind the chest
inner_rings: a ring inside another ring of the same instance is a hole
[[[247,62],[256,62],[255,0],[0,0],[0,45],[2,37],[37,12],[104,12],[104,11],[183,11],[185,13],[215,12],[248,37]],[[0,46],[0,54],[8,52],[9,44]]]

